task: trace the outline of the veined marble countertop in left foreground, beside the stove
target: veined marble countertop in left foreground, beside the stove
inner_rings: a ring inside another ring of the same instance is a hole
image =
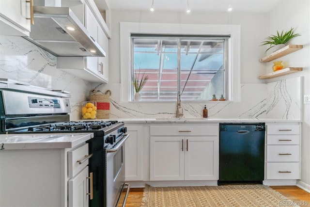
[[[93,133],[0,134],[0,150],[72,148],[93,138]]]

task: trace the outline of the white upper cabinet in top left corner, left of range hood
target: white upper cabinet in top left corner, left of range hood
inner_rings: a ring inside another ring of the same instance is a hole
[[[33,0],[0,0],[0,35],[29,36]]]

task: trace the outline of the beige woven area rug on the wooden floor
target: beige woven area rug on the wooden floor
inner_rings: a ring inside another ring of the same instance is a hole
[[[264,185],[151,187],[141,207],[289,207],[291,200]]]

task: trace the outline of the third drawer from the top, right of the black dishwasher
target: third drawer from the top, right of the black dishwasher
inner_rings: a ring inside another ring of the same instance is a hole
[[[298,162],[299,145],[268,145],[267,162]]]

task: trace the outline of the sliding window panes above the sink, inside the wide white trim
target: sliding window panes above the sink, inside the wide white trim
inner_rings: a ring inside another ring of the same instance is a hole
[[[131,76],[148,76],[142,101],[226,97],[229,35],[131,34]],[[131,85],[132,93],[134,87]],[[133,96],[131,97],[133,100]]]

